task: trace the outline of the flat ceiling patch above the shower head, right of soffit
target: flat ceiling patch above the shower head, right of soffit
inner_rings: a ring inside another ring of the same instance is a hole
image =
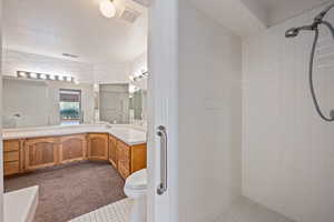
[[[256,0],[267,11],[267,23],[269,26],[293,18],[304,11],[320,7],[333,0]]]

